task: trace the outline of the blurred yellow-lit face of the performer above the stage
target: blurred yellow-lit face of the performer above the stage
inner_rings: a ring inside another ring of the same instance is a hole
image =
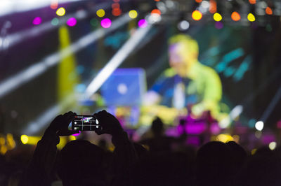
[[[195,55],[192,55],[188,51],[188,47],[183,43],[169,45],[169,64],[179,76],[187,76],[188,70],[194,61]]]

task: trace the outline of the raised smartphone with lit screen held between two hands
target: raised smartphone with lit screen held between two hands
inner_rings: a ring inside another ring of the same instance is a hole
[[[72,120],[74,131],[98,131],[101,130],[100,123],[93,115],[75,115]]]

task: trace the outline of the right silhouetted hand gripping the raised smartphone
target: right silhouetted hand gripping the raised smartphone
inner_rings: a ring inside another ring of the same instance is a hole
[[[121,127],[121,124],[117,120],[117,118],[110,114],[107,113],[107,111],[103,110],[98,113],[95,113],[94,116],[100,123],[100,126],[102,129],[100,131],[96,131],[96,134],[120,134],[123,132],[123,129]]]

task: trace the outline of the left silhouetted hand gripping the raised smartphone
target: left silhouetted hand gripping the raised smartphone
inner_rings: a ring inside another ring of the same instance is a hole
[[[68,130],[68,125],[73,120],[76,113],[72,113],[71,111],[65,113],[64,115],[58,115],[55,117],[53,122],[51,122],[50,126],[48,127],[52,131],[55,131],[58,136],[70,136],[72,134],[77,134],[79,131],[70,131]]]

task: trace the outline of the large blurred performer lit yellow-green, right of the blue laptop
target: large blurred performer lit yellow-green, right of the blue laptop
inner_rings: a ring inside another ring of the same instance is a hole
[[[198,44],[190,36],[179,34],[169,39],[169,64],[145,95],[145,105],[155,104],[181,110],[192,104],[192,113],[211,110],[216,116],[221,100],[221,80],[208,66],[198,62]]]

